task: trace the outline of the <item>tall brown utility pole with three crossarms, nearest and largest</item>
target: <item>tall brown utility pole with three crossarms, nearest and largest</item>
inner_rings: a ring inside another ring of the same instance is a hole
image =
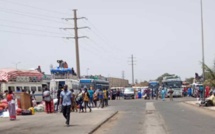
[[[77,17],[77,9],[74,9],[73,12],[74,12],[74,18],[63,18],[63,19],[65,19],[67,21],[68,20],[74,20],[74,28],[60,28],[60,29],[63,29],[63,30],[73,29],[74,32],[75,32],[75,37],[63,37],[63,38],[66,38],[66,39],[75,39],[77,76],[78,76],[78,78],[80,78],[81,71],[80,71],[80,57],[79,57],[79,43],[78,43],[78,40],[79,40],[79,38],[88,38],[88,37],[87,36],[81,36],[81,37],[79,37],[78,36],[78,29],[84,29],[84,28],[89,28],[89,27],[78,27],[77,20],[78,19],[86,19],[86,18],[85,17],[78,18]]]

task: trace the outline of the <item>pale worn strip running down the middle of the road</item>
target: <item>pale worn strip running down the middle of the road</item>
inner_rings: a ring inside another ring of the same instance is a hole
[[[146,103],[146,119],[144,127],[146,134],[167,134],[164,121],[155,109],[153,102]]]

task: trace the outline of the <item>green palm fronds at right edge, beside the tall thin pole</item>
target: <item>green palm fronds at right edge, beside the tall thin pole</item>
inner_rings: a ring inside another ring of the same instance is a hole
[[[215,87],[215,69],[208,67],[206,64],[204,64],[205,68],[205,81],[204,85],[209,85],[211,87]]]

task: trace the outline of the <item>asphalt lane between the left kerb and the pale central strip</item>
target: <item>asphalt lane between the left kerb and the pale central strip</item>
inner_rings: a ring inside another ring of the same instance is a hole
[[[94,134],[143,134],[145,102],[143,100],[111,100],[111,109],[118,114],[101,126]]]

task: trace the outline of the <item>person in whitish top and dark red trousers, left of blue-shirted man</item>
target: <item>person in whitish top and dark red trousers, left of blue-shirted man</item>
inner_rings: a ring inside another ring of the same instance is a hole
[[[52,113],[52,110],[51,110],[52,97],[51,97],[51,93],[47,87],[45,88],[45,91],[43,92],[43,100],[45,101],[46,112],[48,114]]]

